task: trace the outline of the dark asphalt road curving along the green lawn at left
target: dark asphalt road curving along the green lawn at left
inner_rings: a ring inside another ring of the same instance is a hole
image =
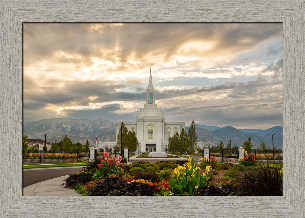
[[[27,187],[31,184],[41,182],[44,180],[69,175],[72,173],[77,173],[80,170],[84,169],[83,167],[72,167],[64,169],[44,169],[44,170],[23,170],[23,180],[22,188]]]

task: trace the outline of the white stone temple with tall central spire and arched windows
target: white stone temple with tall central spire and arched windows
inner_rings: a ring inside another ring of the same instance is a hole
[[[146,89],[146,102],[144,107],[137,111],[137,121],[124,122],[124,124],[128,131],[135,131],[139,141],[137,150],[139,152],[165,152],[168,138],[175,132],[180,134],[180,131],[185,129],[185,122],[165,122],[164,111],[156,105],[156,90],[152,84],[151,72]],[[117,122],[117,134],[120,128],[121,122]],[[98,147],[103,148],[106,144],[109,147],[110,143],[116,142],[99,142]]]

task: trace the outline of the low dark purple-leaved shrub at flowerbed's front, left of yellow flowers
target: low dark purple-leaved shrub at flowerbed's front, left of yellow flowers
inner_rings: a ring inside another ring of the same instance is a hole
[[[147,196],[154,195],[155,188],[149,184],[140,182],[126,182],[116,177],[106,178],[93,186],[88,195],[125,195],[125,196]]]

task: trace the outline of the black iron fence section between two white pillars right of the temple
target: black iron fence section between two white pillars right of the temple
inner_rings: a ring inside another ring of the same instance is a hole
[[[218,161],[221,162],[236,162],[238,163],[238,149],[227,149],[227,148],[210,148],[209,149],[209,157],[215,157]]]

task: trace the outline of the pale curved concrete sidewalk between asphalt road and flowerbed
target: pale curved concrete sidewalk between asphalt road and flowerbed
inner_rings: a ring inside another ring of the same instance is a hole
[[[75,190],[63,188],[63,180],[69,175],[38,182],[23,188],[23,196],[82,196]]]

